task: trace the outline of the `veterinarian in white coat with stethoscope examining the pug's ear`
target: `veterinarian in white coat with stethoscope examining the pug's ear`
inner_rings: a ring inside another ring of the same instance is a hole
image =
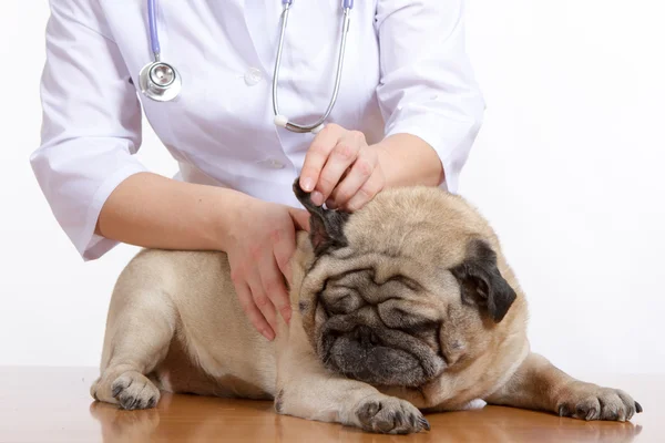
[[[60,226],[85,260],[226,251],[268,340],[308,229],[294,179],[351,212],[390,186],[456,192],[482,122],[462,0],[50,3],[30,161]],[[173,178],[134,155],[142,112]]]

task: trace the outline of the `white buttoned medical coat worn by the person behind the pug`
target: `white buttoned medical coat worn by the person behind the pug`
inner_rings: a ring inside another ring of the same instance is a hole
[[[152,60],[146,1],[51,0],[41,96],[42,144],[30,161],[51,209],[85,260],[116,243],[94,234],[111,192],[146,171],[142,109],[180,163],[180,178],[299,206],[291,183],[311,134],[273,123],[278,0],[161,0],[162,60],[183,79],[175,102],[137,93]],[[325,111],[335,79],[339,0],[295,1],[279,104],[293,121]],[[450,192],[484,102],[464,52],[462,0],[357,0],[339,99],[329,119],[369,143],[415,134],[439,154]]]

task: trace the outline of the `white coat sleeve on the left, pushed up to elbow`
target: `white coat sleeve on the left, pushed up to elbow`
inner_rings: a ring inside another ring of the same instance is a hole
[[[94,234],[111,192],[146,171],[141,106],[98,1],[51,1],[41,81],[41,145],[30,156],[51,210],[84,260],[117,243]]]

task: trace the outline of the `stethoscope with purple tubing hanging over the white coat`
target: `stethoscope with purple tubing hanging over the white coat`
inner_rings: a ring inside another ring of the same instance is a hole
[[[332,97],[324,115],[311,124],[298,124],[289,122],[288,117],[279,113],[277,101],[277,82],[279,79],[279,65],[282,63],[282,50],[284,48],[284,35],[286,33],[286,23],[294,0],[282,0],[282,31],[279,33],[279,47],[275,60],[275,70],[273,72],[273,112],[275,114],[275,124],[296,133],[318,133],[326,119],[330,116],[337,96],[339,94],[339,83],[341,80],[341,70],[344,66],[344,56],[346,52],[347,33],[349,30],[350,12],[354,8],[354,0],[341,0],[344,16],[341,19],[341,38],[339,53],[337,56],[337,72],[335,75],[335,86]],[[177,70],[170,63],[161,60],[160,37],[157,34],[157,14],[156,0],[147,0],[147,21],[150,27],[150,44],[153,53],[153,61],[146,64],[139,75],[141,92],[149,99],[157,102],[168,102],[174,100],[181,93],[183,87],[182,79]]]

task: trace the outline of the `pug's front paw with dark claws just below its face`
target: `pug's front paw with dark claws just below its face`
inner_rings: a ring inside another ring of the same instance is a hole
[[[422,413],[406,400],[372,395],[360,402],[356,418],[365,431],[383,434],[410,434],[430,430]]]

